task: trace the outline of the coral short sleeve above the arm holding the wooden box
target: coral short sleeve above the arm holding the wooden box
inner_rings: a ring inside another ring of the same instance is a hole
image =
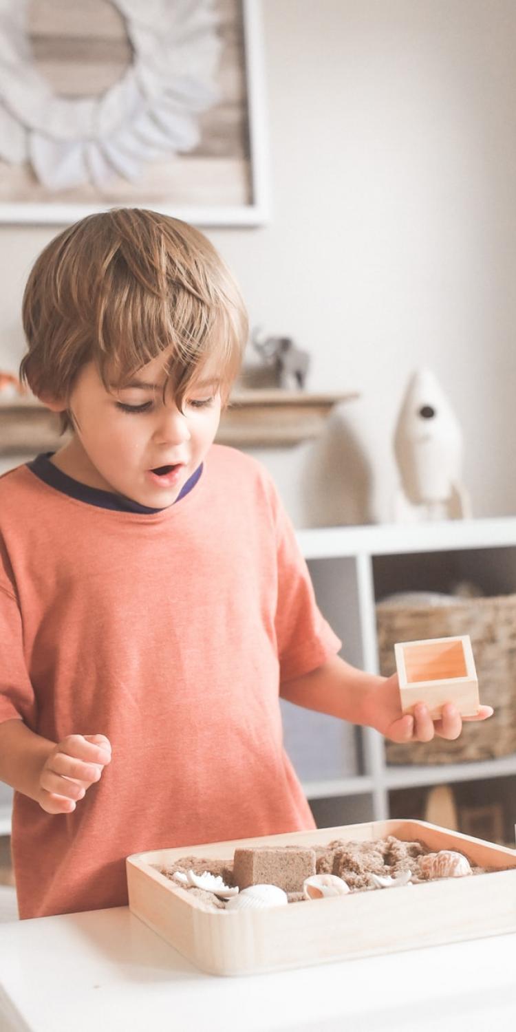
[[[278,607],[276,633],[282,682],[301,677],[338,652],[342,642],[320,612],[295,530],[277,499]]]

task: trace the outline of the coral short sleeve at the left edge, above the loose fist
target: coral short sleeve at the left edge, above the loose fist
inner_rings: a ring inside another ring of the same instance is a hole
[[[24,657],[18,601],[0,583],[0,722],[22,717],[32,723],[35,699]]]

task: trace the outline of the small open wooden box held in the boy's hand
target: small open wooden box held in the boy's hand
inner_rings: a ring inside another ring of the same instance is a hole
[[[394,653],[404,713],[413,713],[419,702],[427,704],[433,720],[445,703],[454,703],[460,716],[478,713],[479,686],[467,635],[399,642]]]

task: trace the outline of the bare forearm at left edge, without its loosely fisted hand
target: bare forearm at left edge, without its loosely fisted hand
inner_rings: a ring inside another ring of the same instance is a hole
[[[39,801],[39,775],[55,742],[35,735],[17,718],[0,723],[0,781]]]

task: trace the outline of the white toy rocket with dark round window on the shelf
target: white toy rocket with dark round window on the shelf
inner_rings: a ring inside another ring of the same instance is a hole
[[[394,432],[394,452],[401,478],[394,498],[397,522],[472,515],[460,479],[460,425],[429,369],[419,369],[409,382]]]

